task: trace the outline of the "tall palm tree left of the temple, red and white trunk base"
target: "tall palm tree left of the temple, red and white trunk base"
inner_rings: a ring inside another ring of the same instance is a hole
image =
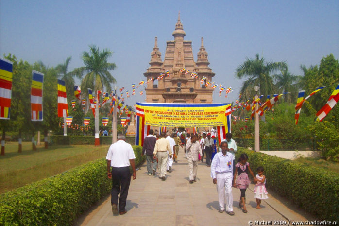
[[[106,92],[111,91],[111,83],[116,83],[115,78],[110,74],[109,70],[116,68],[115,63],[108,63],[107,59],[112,56],[112,53],[108,49],[99,51],[95,45],[89,46],[90,52],[84,51],[82,53],[82,60],[85,64],[84,67],[80,67],[74,70],[74,73],[85,77],[81,81],[81,88],[86,93],[87,88],[93,90],[93,95],[98,90],[102,90],[104,87]],[[99,100],[97,101],[99,103]],[[95,107],[95,145],[99,145],[99,108]]]

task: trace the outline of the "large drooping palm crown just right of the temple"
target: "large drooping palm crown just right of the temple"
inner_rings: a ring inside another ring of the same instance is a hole
[[[265,62],[264,58],[261,57],[259,59],[259,54],[256,54],[254,59],[246,57],[246,61],[237,67],[235,75],[237,79],[249,77],[241,88],[241,92],[243,93],[242,100],[254,96],[253,87],[258,85],[262,94],[268,95],[274,93],[275,86],[271,73],[276,70],[286,69],[287,64],[285,62]]]

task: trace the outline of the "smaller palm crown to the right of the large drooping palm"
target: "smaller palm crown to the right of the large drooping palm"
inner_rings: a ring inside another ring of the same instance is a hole
[[[275,87],[278,89],[279,93],[287,93],[284,96],[284,100],[288,103],[292,103],[292,94],[291,92],[297,92],[298,87],[296,82],[299,80],[299,76],[291,74],[288,70],[280,70],[281,74],[274,74],[273,78],[275,79]],[[295,96],[295,95],[294,95]]]

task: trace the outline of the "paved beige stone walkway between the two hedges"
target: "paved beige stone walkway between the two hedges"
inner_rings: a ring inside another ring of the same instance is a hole
[[[253,184],[246,191],[247,214],[238,207],[240,191],[235,188],[232,188],[235,215],[219,213],[210,167],[199,163],[197,182],[189,184],[188,164],[182,151],[178,160],[166,181],[157,175],[148,176],[144,164],[136,172],[136,180],[131,181],[125,215],[113,216],[107,197],[82,220],[81,226],[247,226],[249,221],[307,220],[271,196],[261,203],[262,209],[256,209]]]

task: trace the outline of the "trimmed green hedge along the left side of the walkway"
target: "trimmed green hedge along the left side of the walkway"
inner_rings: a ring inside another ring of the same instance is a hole
[[[133,146],[136,166],[142,148]],[[110,193],[105,159],[0,195],[0,226],[68,226],[86,209]]]

